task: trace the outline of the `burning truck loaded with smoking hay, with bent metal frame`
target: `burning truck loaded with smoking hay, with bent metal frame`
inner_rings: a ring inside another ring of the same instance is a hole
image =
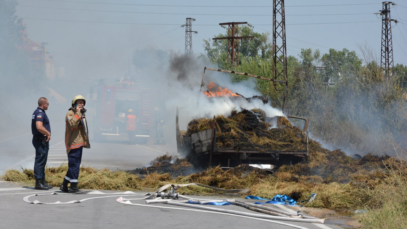
[[[205,69],[268,79],[247,73]],[[201,88],[204,86],[204,75]],[[216,88],[213,82],[210,82],[207,88],[208,90],[204,92],[201,90],[200,93],[204,93],[212,101],[228,97],[236,103],[242,100],[250,103],[254,99],[260,99],[263,104],[268,103],[267,97],[246,98],[239,93],[232,93],[227,88]],[[215,88],[217,90],[213,91]],[[299,163],[308,158],[309,119],[307,118],[293,115],[267,117],[263,110],[243,109],[241,112],[233,110],[230,117],[218,115],[213,119],[193,119],[188,123],[187,130],[181,130],[179,116],[185,109],[184,106],[178,106],[175,117],[177,150],[196,167],[217,165],[235,167],[249,164],[262,165],[263,168],[274,171],[281,165]],[[289,120],[293,123],[302,123],[302,128],[292,125]],[[275,123],[275,125],[270,123]],[[233,127],[231,128],[231,126]],[[271,128],[273,126],[277,128]]]

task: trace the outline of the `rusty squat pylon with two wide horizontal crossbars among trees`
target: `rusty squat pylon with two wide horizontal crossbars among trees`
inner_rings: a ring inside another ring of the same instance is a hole
[[[239,37],[239,24],[247,24],[247,22],[226,22],[219,23],[220,26],[228,25],[228,36],[212,38],[212,40],[224,40],[228,39],[228,59],[230,59],[232,66],[239,65],[239,39],[253,38],[249,37]]]

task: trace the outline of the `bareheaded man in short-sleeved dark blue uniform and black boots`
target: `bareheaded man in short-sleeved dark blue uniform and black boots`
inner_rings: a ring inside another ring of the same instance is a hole
[[[48,110],[48,99],[41,97],[38,99],[38,107],[33,112],[31,119],[31,132],[33,133],[33,146],[35,148],[34,162],[34,189],[48,190],[53,186],[45,182],[45,165],[48,158],[49,141],[51,139],[50,121],[45,114]]]

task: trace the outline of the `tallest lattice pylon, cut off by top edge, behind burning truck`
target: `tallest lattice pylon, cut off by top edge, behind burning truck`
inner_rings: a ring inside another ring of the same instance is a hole
[[[277,46],[277,41],[280,46]],[[282,108],[281,108],[282,112],[284,112],[288,85],[284,0],[273,0],[273,79],[282,80],[285,82],[280,83],[273,81],[273,85],[276,90],[277,84],[284,86],[284,94],[282,95]]]

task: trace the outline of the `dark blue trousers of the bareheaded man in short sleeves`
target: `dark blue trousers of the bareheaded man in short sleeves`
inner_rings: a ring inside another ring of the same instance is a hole
[[[35,148],[34,178],[45,178],[45,165],[50,143],[46,142],[43,136],[33,135],[33,146]]]

